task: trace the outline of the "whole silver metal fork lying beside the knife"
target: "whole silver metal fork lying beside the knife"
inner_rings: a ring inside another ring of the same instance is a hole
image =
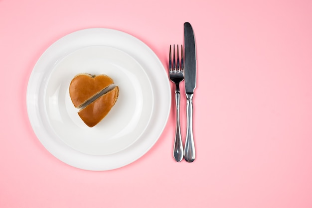
[[[171,62],[171,45],[169,50],[169,78],[175,84],[176,128],[174,137],[173,157],[180,162],[183,159],[183,145],[180,128],[180,87],[184,80],[183,47],[181,45],[181,62],[179,62],[179,46],[177,45],[177,62],[175,62],[175,50],[173,45],[173,65]]]

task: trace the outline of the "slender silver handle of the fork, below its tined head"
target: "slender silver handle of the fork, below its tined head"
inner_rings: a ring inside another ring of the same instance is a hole
[[[173,157],[175,161],[180,162],[183,159],[183,144],[180,128],[180,90],[179,85],[175,85],[175,107],[176,107],[176,122],[175,122],[175,137],[173,147]]]

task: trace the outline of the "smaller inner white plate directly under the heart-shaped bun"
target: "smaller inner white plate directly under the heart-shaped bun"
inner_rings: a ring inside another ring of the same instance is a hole
[[[69,96],[75,75],[110,76],[119,87],[119,97],[109,114],[88,127]],[[64,57],[46,81],[47,118],[55,136],[86,154],[108,155],[133,144],[145,131],[153,112],[153,91],[141,65],[125,52],[107,46],[89,46]]]

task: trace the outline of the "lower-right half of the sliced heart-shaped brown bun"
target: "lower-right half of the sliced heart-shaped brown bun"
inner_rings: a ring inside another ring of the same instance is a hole
[[[81,109],[78,114],[89,127],[98,124],[111,110],[118,99],[119,88],[116,86],[94,102]]]

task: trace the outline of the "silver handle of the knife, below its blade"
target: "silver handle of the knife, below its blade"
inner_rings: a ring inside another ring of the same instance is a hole
[[[186,139],[184,147],[184,159],[186,162],[193,162],[195,160],[195,145],[193,137],[193,94],[186,94]]]

